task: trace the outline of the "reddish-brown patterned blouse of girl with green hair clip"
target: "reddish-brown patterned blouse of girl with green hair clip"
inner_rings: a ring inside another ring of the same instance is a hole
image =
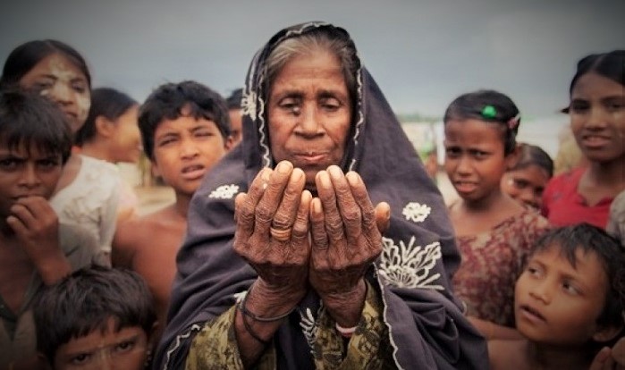
[[[525,210],[491,231],[457,238],[462,263],[452,284],[468,315],[514,327],[515,282],[529,250],[548,229],[545,217]]]

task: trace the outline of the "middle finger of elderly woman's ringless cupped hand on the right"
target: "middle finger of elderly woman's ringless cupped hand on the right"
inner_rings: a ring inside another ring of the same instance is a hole
[[[356,240],[362,231],[362,216],[360,207],[351,194],[351,187],[343,175],[341,168],[337,165],[328,167],[330,178],[334,185],[336,203],[341,213],[342,226],[347,235],[348,244]]]

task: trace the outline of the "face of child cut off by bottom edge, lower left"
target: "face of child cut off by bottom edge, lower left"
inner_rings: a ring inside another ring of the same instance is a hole
[[[55,370],[142,370],[148,352],[148,335],[137,326],[114,331],[110,319],[105,332],[99,329],[56,349]]]

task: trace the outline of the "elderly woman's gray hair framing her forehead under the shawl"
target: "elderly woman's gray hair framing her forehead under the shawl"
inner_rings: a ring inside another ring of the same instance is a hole
[[[356,46],[349,36],[334,29],[320,27],[300,36],[283,40],[274,47],[266,58],[266,89],[268,99],[274,81],[284,65],[298,55],[311,55],[318,50],[325,50],[339,59],[342,74],[350,93],[351,105],[356,104],[356,74],[359,69]]]

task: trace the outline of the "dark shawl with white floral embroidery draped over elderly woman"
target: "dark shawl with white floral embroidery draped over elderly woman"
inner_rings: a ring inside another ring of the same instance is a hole
[[[180,250],[173,283],[169,324],[156,352],[158,368],[182,368],[194,332],[235,303],[256,272],[232,250],[234,197],[247,191],[263,166],[274,166],[267,137],[265,63],[286,38],[325,27],[324,22],[283,29],[255,55],[243,90],[243,142],[207,174],[194,194],[188,232]],[[451,275],[460,263],[443,198],[428,178],[418,155],[382,92],[359,63],[357,102],[343,171],[359,172],[374,204],[386,201],[392,218],[384,233],[384,252],[367,275],[384,300],[398,368],[486,368],[482,337],[462,315],[451,290]],[[279,368],[313,368],[305,313],[315,313],[313,293],[275,333]],[[308,357],[307,357],[308,354]]]

